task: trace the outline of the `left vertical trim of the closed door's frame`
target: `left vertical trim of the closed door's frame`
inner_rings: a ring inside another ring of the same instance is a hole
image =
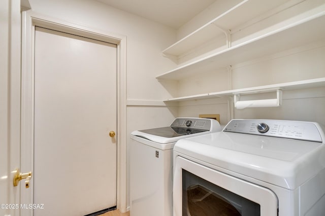
[[[34,170],[34,73],[32,72],[34,71],[34,29],[31,18],[26,12],[22,12],[20,168],[31,171]],[[20,203],[33,203],[33,183],[32,178],[30,190],[20,190]],[[32,215],[32,210],[21,209],[20,215]]]

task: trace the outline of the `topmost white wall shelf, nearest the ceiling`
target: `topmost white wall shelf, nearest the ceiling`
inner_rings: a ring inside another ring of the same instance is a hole
[[[215,19],[211,20],[207,24],[201,26],[197,30],[191,32],[181,40],[177,41],[172,46],[163,51],[165,55],[180,56],[204,42],[211,40],[233,29],[234,27],[245,23],[254,17],[261,15],[270,9],[277,7],[287,0],[273,0],[273,1],[261,1],[261,0],[245,0],[231,8],[230,10],[222,13]],[[256,10],[258,8],[258,10]],[[240,14],[240,16],[238,16]]]

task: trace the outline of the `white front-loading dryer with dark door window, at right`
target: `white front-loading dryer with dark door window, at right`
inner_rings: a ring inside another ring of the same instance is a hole
[[[324,142],[315,122],[249,119],[180,140],[174,216],[325,215]]]

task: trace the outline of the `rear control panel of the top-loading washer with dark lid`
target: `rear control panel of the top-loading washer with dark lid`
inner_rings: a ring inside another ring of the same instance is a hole
[[[171,127],[187,127],[193,129],[202,129],[204,131],[210,131],[211,119],[207,118],[176,118]]]

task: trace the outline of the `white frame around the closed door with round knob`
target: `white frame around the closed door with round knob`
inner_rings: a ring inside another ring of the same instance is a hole
[[[21,29],[21,170],[34,170],[34,53],[35,26],[57,30],[117,46],[117,188],[116,205],[126,211],[126,36],[91,29],[73,22],[22,12]],[[21,203],[33,203],[34,182],[21,190]],[[40,203],[39,203],[40,204]],[[21,211],[21,215],[32,215]]]

